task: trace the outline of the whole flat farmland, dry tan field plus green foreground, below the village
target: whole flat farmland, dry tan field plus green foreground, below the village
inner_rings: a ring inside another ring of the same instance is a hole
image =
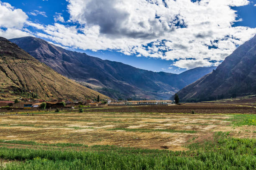
[[[253,106],[84,111],[1,115],[0,169],[256,169]]]

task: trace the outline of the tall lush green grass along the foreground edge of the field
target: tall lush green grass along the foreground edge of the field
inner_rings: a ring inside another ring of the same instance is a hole
[[[186,152],[95,145],[86,151],[0,148],[0,158],[20,160],[3,170],[254,170],[256,140],[216,133]]]

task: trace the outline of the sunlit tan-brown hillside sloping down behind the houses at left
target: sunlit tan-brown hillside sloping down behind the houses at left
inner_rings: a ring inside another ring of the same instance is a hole
[[[38,96],[84,100],[97,95],[108,98],[60,75],[3,37],[0,37],[0,77],[0,99]]]

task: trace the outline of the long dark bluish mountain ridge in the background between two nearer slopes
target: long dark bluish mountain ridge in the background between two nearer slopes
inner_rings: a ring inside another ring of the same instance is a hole
[[[61,75],[115,99],[169,99],[182,87],[215,69],[200,67],[180,75],[152,72],[65,50],[40,38],[21,37],[10,41]]]

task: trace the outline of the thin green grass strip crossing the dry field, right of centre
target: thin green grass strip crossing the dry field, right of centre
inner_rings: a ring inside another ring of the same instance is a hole
[[[125,130],[126,132],[170,132],[170,133],[197,133],[195,130],[173,130],[173,129],[128,129],[128,128],[113,128],[108,130]]]

